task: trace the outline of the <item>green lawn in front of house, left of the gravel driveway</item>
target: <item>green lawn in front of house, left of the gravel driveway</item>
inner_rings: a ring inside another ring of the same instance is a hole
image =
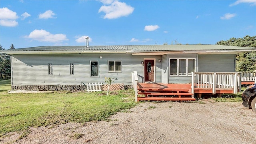
[[[105,120],[137,104],[132,90],[108,96],[102,92],[8,94],[10,80],[0,81],[0,90],[0,137],[30,127]]]

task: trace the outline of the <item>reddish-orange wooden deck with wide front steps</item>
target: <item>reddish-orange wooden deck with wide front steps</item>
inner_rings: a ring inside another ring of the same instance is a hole
[[[194,101],[191,84],[162,84],[162,83],[138,83],[137,100],[152,100],[152,101]],[[212,88],[195,88],[195,94],[201,97],[202,94],[212,94]],[[216,88],[216,94],[232,94],[232,88]]]

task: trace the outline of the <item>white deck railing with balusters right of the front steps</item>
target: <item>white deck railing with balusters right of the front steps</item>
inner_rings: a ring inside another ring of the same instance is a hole
[[[212,93],[216,94],[216,88],[234,89],[234,94],[240,89],[239,72],[192,72],[192,93],[195,88],[212,88]]]

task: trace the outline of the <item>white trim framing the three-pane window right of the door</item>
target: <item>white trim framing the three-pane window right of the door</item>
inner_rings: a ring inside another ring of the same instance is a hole
[[[171,66],[170,66],[170,60],[177,60],[177,74],[178,75],[170,75],[170,72],[169,72],[169,76],[191,76],[191,75],[188,75],[188,60],[195,60],[194,61],[194,70],[195,72],[197,71],[196,70],[196,58],[169,58],[169,69],[171,69]],[[186,75],[179,75],[179,70],[180,70],[180,60],[186,60]]]

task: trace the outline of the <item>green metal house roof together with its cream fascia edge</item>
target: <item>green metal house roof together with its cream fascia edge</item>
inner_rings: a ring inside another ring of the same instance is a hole
[[[2,50],[1,53],[8,54],[32,54],[40,53],[74,53],[74,52],[175,52],[175,51],[215,51],[216,50],[238,50],[248,51],[256,48],[239,47],[239,46],[222,46],[222,45],[126,45],[126,46],[38,46],[31,48],[16,48],[11,50]],[[54,51],[54,52],[53,52]]]

